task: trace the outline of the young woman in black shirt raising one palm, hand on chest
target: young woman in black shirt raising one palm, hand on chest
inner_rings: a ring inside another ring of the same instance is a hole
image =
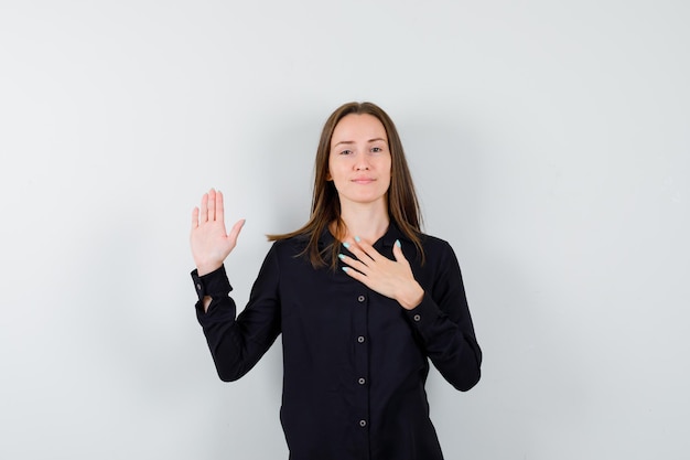
[[[424,383],[429,360],[460,391],[479,379],[477,345],[453,249],[420,229],[393,122],[352,103],[327,119],[312,214],[274,240],[236,318],[223,263],[223,194],[192,215],[197,318],[218,375],[245,375],[282,333],[281,421],[292,460],[438,460]]]

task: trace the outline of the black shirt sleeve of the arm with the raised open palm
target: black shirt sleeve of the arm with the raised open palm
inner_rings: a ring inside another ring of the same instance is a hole
[[[279,264],[274,248],[266,256],[249,302],[237,318],[225,267],[202,277],[192,271],[198,296],[196,318],[222,381],[233,382],[247,374],[280,334]],[[207,312],[203,307],[205,296],[212,298]]]

